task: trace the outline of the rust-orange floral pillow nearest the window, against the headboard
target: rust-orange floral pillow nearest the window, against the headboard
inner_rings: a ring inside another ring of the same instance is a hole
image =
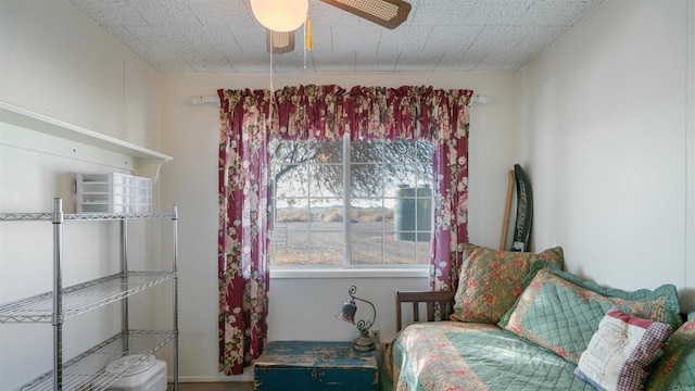
[[[464,244],[458,289],[454,295],[452,320],[495,324],[514,305],[523,291],[523,278],[536,260],[564,266],[563,249],[557,247],[539,254],[496,251]]]

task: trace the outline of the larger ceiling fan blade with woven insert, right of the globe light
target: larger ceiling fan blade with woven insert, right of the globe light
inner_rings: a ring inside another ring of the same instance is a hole
[[[387,28],[396,28],[408,18],[410,4],[403,0],[320,0]]]

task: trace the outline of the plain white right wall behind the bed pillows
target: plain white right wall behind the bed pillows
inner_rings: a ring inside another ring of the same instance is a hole
[[[535,248],[561,244],[567,267],[602,285],[674,283],[686,311],[694,14],[688,0],[610,1],[520,72]]]

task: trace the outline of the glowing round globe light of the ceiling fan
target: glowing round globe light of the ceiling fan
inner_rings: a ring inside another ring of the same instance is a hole
[[[265,28],[278,33],[298,29],[307,11],[308,0],[251,0],[253,16]]]

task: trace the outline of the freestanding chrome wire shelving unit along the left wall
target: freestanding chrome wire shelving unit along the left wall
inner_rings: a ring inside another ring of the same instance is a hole
[[[170,272],[128,270],[128,220],[170,219],[173,261]],[[0,222],[48,220],[53,224],[53,290],[0,304],[0,324],[50,323],[53,327],[53,369],[24,384],[21,390],[105,390],[130,367],[109,369],[114,361],[132,354],[152,354],[173,342],[174,390],[178,390],[178,211],[170,214],[64,214],[62,199],[54,199],[53,213],[0,213]],[[65,220],[116,220],[121,223],[121,273],[72,287],[62,287],[62,237]],[[129,330],[127,298],[149,288],[173,281],[174,317],[170,330]],[[72,317],[121,302],[122,332],[92,349],[63,361],[63,323]],[[144,357],[144,356],[143,356]],[[144,358],[143,358],[144,360]],[[135,361],[131,367],[139,363]]]

